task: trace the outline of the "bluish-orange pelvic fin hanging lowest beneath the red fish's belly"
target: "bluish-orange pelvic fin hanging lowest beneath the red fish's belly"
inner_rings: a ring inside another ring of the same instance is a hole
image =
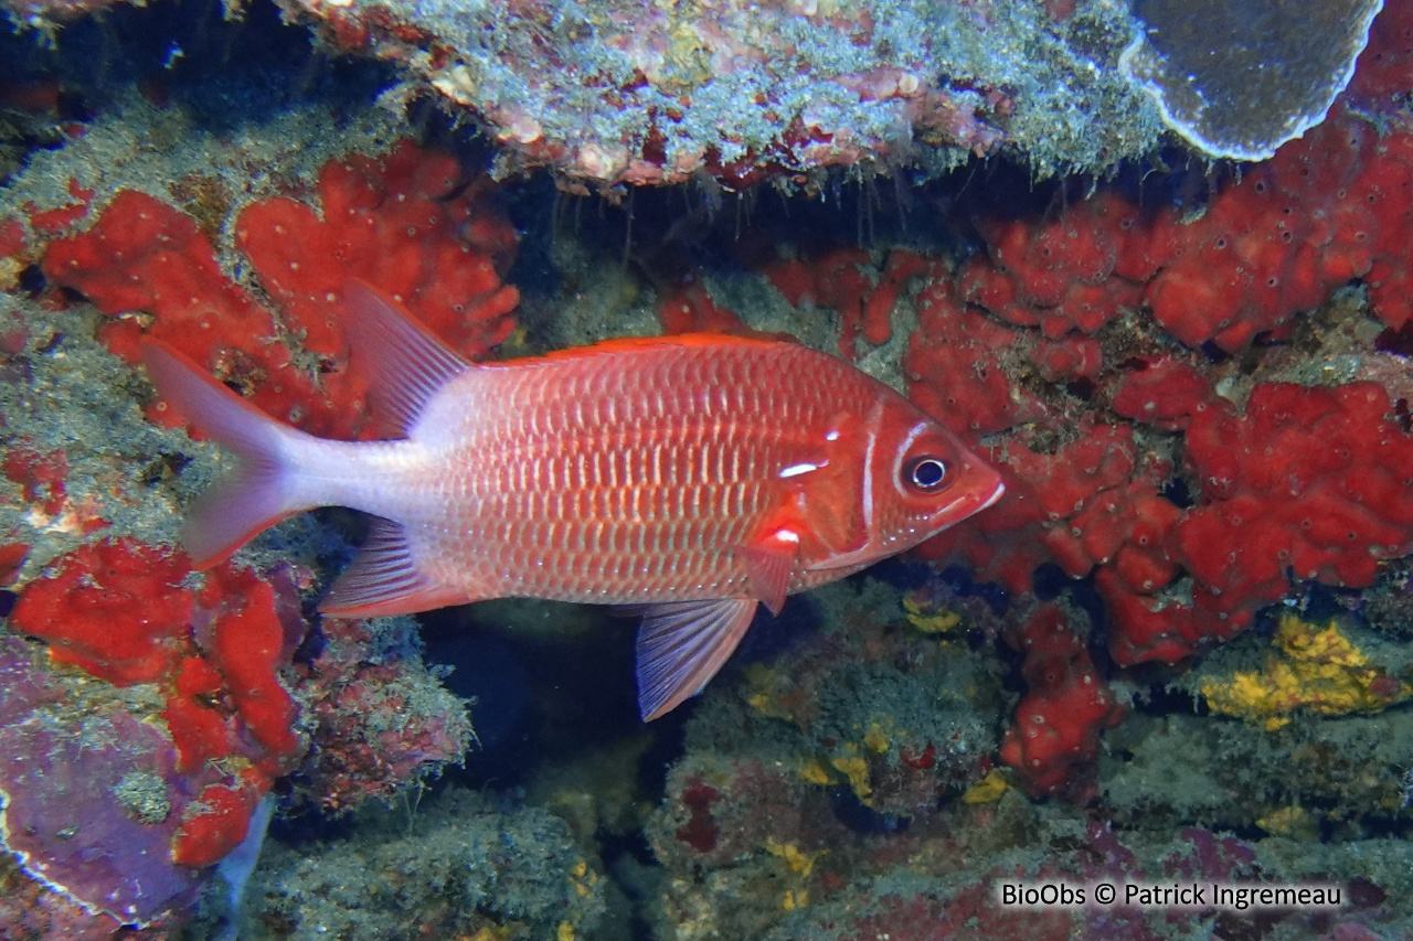
[[[637,708],[644,722],[702,691],[750,627],[756,600],[721,598],[636,609]]]

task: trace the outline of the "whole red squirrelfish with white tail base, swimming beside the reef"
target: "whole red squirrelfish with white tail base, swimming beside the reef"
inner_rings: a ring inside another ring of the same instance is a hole
[[[630,606],[647,719],[701,691],[757,605],[779,612],[1002,493],[907,398],[805,346],[698,333],[473,365],[370,287],[343,298],[394,441],[304,434],[146,345],[161,396],[239,458],[189,510],[192,558],[211,565],[314,507],[370,513],[326,615]]]

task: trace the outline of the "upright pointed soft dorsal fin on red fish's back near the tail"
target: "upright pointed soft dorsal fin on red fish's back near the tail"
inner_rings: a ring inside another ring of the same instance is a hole
[[[367,376],[373,407],[403,434],[437,390],[475,369],[401,304],[363,281],[343,284],[343,312],[353,367]]]

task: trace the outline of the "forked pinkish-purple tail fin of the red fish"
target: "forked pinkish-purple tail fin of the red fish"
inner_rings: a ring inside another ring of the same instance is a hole
[[[261,530],[315,506],[297,502],[291,459],[315,438],[264,414],[160,341],[143,342],[143,360],[161,397],[239,458],[239,466],[187,511],[181,541],[198,568],[215,565]]]

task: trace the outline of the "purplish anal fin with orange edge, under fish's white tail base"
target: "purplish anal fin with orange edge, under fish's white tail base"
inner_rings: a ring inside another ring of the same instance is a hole
[[[367,540],[319,602],[319,610],[332,617],[383,617],[471,600],[475,599],[434,582],[417,568],[401,526],[373,517]]]

